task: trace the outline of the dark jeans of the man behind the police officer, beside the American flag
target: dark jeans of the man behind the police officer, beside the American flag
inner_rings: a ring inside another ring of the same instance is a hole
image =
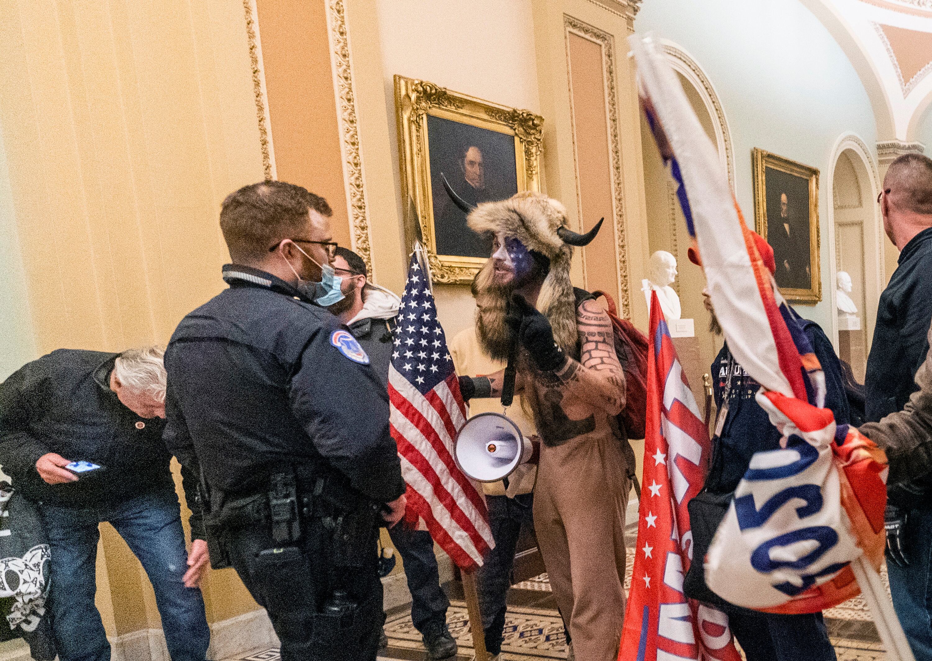
[[[398,524],[389,528],[389,536],[404,562],[404,576],[411,591],[411,622],[421,634],[426,627],[443,627],[450,600],[440,587],[431,533]]]

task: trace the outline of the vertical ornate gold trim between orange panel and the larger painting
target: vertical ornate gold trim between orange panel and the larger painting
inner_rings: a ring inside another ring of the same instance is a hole
[[[360,155],[356,94],[352,84],[346,8],[343,0],[327,3],[330,28],[330,53],[336,81],[336,117],[340,128],[340,151],[343,153],[343,177],[349,201],[349,229],[352,250],[363,258],[370,277],[375,277],[368,209],[365,203],[363,157]]]

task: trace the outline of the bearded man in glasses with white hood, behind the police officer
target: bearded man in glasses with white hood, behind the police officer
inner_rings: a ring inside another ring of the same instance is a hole
[[[397,350],[392,333],[398,325],[401,299],[389,290],[370,283],[365,275],[363,258],[352,250],[337,248],[333,260],[336,277],[340,278],[343,298],[327,309],[349,328],[363,346],[372,367],[388,389],[391,352]],[[446,627],[446,609],[450,605],[440,587],[440,571],[433,555],[433,540],[427,531],[408,530],[394,526],[389,530],[391,543],[404,561],[404,575],[411,591],[411,621],[424,641],[431,661],[448,659],[457,654],[457,641]],[[388,639],[383,638],[383,645]]]

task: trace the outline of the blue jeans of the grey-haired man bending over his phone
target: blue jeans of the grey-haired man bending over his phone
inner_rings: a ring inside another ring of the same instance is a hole
[[[61,661],[109,661],[110,643],[97,592],[98,523],[108,521],[143,563],[156,592],[171,661],[204,661],[211,630],[196,587],[185,587],[185,532],[174,492],[148,493],[119,504],[41,506],[51,546],[48,612]]]

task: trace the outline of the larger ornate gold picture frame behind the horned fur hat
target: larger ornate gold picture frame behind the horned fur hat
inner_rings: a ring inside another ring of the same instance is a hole
[[[479,239],[464,230],[465,214],[449,207],[451,200],[441,183],[440,172],[433,170],[449,169],[445,176],[454,190],[467,199],[470,196],[462,189],[471,185],[471,181],[479,183],[473,191],[476,196],[481,193],[490,199],[503,199],[520,191],[540,191],[543,117],[403,75],[395,75],[394,88],[405,241],[410,250],[416,239],[421,240],[434,282],[469,284],[486,263],[488,252],[480,256],[476,243]],[[469,138],[458,138],[458,133]],[[488,145],[482,147],[488,156],[474,146],[479,144]],[[464,149],[466,156],[461,154]],[[471,149],[475,151],[470,152]],[[509,162],[512,149],[514,170]],[[470,154],[478,154],[472,180],[467,173]],[[459,169],[451,163],[457,163]],[[493,169],[500,176],[486,185],[484,173]],[[492,185],[496,186],[494,190]],[[482,196],[478,201],[484,201]],[[439,228],[437,213],[441,214]],[[456,250],[466,244],[467,248]],[[473,254],[456,254],[458,251]]]

